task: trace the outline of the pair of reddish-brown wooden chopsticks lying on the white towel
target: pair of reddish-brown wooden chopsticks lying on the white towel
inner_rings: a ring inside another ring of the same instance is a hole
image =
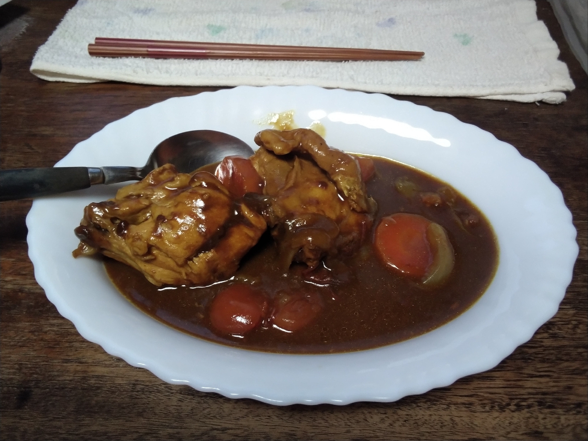
[[[425,52],[96,37],[88,45],[88,54],[113,58],[400,61],[418,60]]]

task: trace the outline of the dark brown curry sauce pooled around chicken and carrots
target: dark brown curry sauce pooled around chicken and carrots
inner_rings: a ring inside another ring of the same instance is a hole
[[[383,216],[415,213],[442,225],[455,250],[455,267],[445,285],[426,290],[399,275],[376,256],[372,236],[355,255],[326,260],[337,283],[320,286],[302,277],[305,265],[293,265],[288,276],[278,268],[277,250],[269,233],[242,259],[234,278],[207,287],[149,283],[137,270],[106,259],[109,277],[123,295],[143,312],[175,329],[238,348],[278,353],[336,353],[389,345],[444,325],[470,308],[492,281],[498,249],[492,227],[467,199],[426,205],[420,195],[447,185],[414,168],[373,158],[376,173],[367,183],[378,204],[374,226]],[[419,192],[403,195],[397,179],[406,178]],[[473,219],[473,220],[472,220]],[[373,228],[372,228],[373,235]],[[244,336],[215,333],[208,320],[214,296],[230,283],[252,283],[270,298],[280,290],[318,293],[323,310],[305,328],[292,333],[259,326]]]

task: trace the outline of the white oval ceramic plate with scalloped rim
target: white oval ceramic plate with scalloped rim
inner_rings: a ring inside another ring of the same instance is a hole
[[[314,119],[329,145],[396,159],[455,186],[495,228],[500,265],[486,293],[447,325],[406,342],[336,355],[232,349],[146,316],[111,284],[102,263],[72,258],[74,228],[98,186],[36,199],[26,223],[35,277],[81,335],[166,382],[276,405],[390,402],[493,368],[557,311],[578,248],[562,193],[533,162],[488,132],[446,113],[385,95],[314,86],[240,86],[172,98],[131,113],[75,146],[59,166],[142,166],[175,133],[212,129],[253,147],[271,112]]]

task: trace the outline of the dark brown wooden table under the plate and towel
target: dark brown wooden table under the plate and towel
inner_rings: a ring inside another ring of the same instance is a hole
[[[0,8],[2,29],[11,26],[2,37],[2,168],[52,166],[135,109],[217,89],[31,75],[36,48],[74,3],[15,0]],[[587,77],[549,3],[538,6],[576,83],[563,104],[397,97],[494,133],[562,189],[580,256],[559,312],[529,342],[495,369],[395,403],[278,407],[173,386],[108,355],[59,315],[27,256],[31,201],[2,202],[2,439],[586,439]]]

